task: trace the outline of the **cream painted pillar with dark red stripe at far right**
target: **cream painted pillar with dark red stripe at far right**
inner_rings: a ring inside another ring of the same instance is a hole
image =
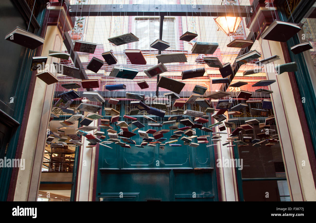
[[[278,55],[281,59],[273,64],[285,63],[279,42],[260,39],[259,43],[264,58]],[[279,133],[291,200],[316,201],[313,175],[289,75],[287,72],[280,75],[276,75],[276,73],[266,74],[267,79],[276,80],[275,83],[270,85],[270,89],[273,90],[271,100],[276,117],[276,126]],[[302,166],[303,160],[306,166]]]

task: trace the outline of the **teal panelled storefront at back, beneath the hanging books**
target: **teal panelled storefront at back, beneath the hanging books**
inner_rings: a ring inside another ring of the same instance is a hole
[[[122,106],[121,116],[124,110]],[[141,117],[138,121],[145,125],[141,130],[152,128]],[[153,129],[169,129],[169,126]],[[185,126],[180,123],[180,127]],[[119,132],[119,127],[114,130]],[[164,142],[172,134],[173,130],[165,133]],[[207,133],[196,129],[196,134]],[[137,145],[142,141],[138,134],[131,139]],[[114,143],[109,145],[112,149],[100,146],[96,201],[218,201],[214,147],[183,146],[180,139],[176,143],[182,146],[166,145],[164,150],[159,146],[138,148],[132,144],[131,148]]]

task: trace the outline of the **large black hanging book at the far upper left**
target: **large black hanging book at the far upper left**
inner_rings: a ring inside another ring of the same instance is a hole
[[[9,32],[4,39],[27,47],[31,50],[43,45],[44,43],[44,38],[19,27],[16,27],[11,32]]]

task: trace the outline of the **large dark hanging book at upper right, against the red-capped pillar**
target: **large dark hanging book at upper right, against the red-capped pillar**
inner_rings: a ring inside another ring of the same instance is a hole
[[[261,38],[264,40],[286,42],[300,30],[301,27],[296,23],[274,20],[270,26],[265,29]]]

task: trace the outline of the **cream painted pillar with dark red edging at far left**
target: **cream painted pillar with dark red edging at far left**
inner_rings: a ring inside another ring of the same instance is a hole
[[[62,38],[57,26],[48,26],[41,56],[47,56],[48,50],[61,49]],[[58,62],[48,57],[46,64]],[[51,112],[54,85],[47,85],[36,78],[32,105],[27,121],[22,159],[26,160],[25,170],[19,170],[14,201],[36,201],[39,188],[41,166],[46,143],[46,129]]]

